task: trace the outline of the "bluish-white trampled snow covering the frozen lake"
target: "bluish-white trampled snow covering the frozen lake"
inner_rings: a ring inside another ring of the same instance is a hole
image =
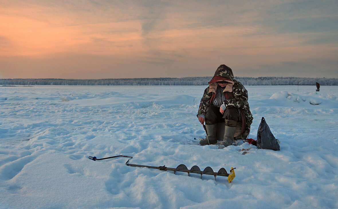
[[[205,87],[0,87],[0,208],[338,208],[338,86],[246,86],[280,151],[199,146]]]

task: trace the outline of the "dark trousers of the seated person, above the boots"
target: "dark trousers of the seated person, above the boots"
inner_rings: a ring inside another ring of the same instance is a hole
[[[236,108],[225,109],[224,114],[219,111],[219,107],[210,106],[206,110],[206,124],[224,123],[225,120],[240,121],[240,113]]]

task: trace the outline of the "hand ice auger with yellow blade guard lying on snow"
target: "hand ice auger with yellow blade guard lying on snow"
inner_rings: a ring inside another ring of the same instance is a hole
[[[200,174],[201,175],[201,179],[202,179],[202,175],[203,174],[206,174],[206,175],[212,175],[215,177],[215,180],[216,180],[216,176],[226,176],[228,177],[228,182],[232,182],[232,180],[235,178],[235,171],[234,169],[236,168],[233,168],[231,167],[231,170],[230,170],[230,174],[228,174],[225,170],[225,168],[220,168],[219,171],[216,173],[213,171],[213,169],[211,167],[206,167],[204,168],[203,171],[201,171],[201,169],[197,166],[197,165],[194,165],[192,166],[192,168],[189,170],[187,168],[186,165],[184,164],[180,164],[178,165],[176,168],[171,168],[171,167],[166,167],[165,165],[163,166],[150,166],[150,165],[138,165],[138,164],[130,164],[128,163],[129,160],[132,158],[131,156],[126,156],[126,155],[117,155],[117,156],[112,156],[112,157],[106,157],[106,158],[96,158],[96,157],[92,157],[92,156],[89,156],[88,158],[91,159],[91,160],[106,160],[106,159],[110,159],[110,158],[116,158],[116,157],[129,157],[129,159],[127,160],[126,162],[126,165],[128,166],[134,166],[134,167],[147,167],[147,168],[155,168],[155,169],[159,169],[161,171],[173,171],[174,174],[176,172],[186,172],[188,173],[188,176],[189,174],[193,173],[193,174]]]

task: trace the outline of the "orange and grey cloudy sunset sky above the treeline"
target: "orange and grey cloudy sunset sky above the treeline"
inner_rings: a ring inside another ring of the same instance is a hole
[[[338,1],[1,0],[0,78],[338,78]]]

